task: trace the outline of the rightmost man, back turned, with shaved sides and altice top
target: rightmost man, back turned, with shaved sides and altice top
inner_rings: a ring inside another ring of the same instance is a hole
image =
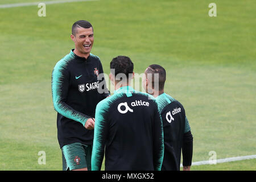
[[[144,72],[143,88],[155,97],[163,121],[164,159],[162,170],[180,170],[181,148],[183,170],[190,170],[192,163],[193,137],[179,101],[164,93],[166,71],[157,64],[150,65]]]

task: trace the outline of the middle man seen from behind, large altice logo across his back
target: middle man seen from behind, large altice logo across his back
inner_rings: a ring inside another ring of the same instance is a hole
[[[129,86],[134,77],[129,57],[115,57],[109,77],[115,92],[96,107],[92,170],[101,169],[105,148],[105,170],[160,171],[163,126],[154,97]]]

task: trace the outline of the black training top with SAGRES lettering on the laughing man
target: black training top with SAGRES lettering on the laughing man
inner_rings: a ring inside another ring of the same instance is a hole
[[[57,111],[60,148],[75,142],[93,143],[93,130],[85,129],[85,122],[95,117],[98,102],[109,96],[104,78],[98,79],[103,73],[100,58],[90,53],[85,59],[73,50],[52,71],[52,100]]]

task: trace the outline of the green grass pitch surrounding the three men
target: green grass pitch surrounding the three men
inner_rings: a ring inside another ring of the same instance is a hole
[[[2,0],[0,4],[38,2]],[[183,104],[194,137],[193,162],[256,154],[256,26],[253,0],[102,0],[0,9],[0,170],[61,170],[51,72],[74,47],[71,26],[89,20],[92,53],[105,73],[117,55],[134,72],[167,71],[166,93]],[[38,152],[46,152],[46,164]],[[256,160],[192,166],[255,170]]]

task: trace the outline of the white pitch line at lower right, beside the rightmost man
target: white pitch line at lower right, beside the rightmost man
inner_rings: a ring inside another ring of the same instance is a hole
[[[217,163],[227,163],[227,162],[233,162],[233,161],[238,161],[238,160],[246,160],[246,159],[255,159],[256,155],[247,155],[247,156],[238,156],[234,158],[225,158],[225,159],[217,159]],[[210,163],[209,163],[210,161]],[[199,162],[193,162],[191,166],[200,166],[200,165],[205,165],[205,164],[212,164],[213,160],[203,160]],[[182,167],[182,164],[180,164],[180,167]]]

